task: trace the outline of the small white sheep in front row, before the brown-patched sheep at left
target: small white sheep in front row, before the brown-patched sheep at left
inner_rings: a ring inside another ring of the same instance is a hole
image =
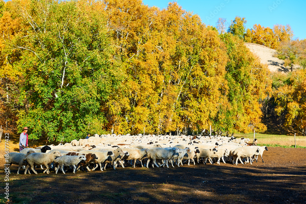
[[[58,168],[55,171],[55,174],[57,174],[58,169],[61,169],[62,172],[65,174],[64,171],[64,166],[73,166],[73,173],[75,174],[75,170],[76,170],[76,165],[79,164],[80,162],[82,163],[82,161],[86,161],[86,157],[84,155],[80,155],[80,156],[60,156],[57,157],[54,162],[58,163]]]

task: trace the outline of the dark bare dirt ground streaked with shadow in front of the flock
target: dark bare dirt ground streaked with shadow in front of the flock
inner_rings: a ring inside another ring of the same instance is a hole
[[[138,166],[65,175],[40,169],[38,175],[17,175],[13,165],[7,203],[306,203],[306,149],[268,149],[264,163],[259,158],[253,165]],[[4,181],[3,169],[0,177]]]

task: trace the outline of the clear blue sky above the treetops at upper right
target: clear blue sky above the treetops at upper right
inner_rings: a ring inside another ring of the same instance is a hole
[[[145,5],[157,6],[160,9],[168,6],[169,0],[143,0]],[[218,18],[226,18],[230,24],[236,16],[245,17],[246,28],[254,24],[273,29],[273,25],[291,26],[294,39],[306,38],[306,1],[298,0],[177,0],[184,10],[198,14],[206,25],[216,25]]]

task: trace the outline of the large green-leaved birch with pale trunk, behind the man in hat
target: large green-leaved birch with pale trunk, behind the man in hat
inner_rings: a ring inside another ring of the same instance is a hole
[[[106,119],[100,106],[120,84],[120,72],[108,61],[103,13],[78,8],[77,2],[35,1],[31,13],[27,23],[35,24],[27,40],[33,49],[24,50],[27,58],[17,64],[26,70],[23,89],[31,106],[20,112],[19,126],[30,126],[34,139],[46,133],[57,141],[101,133]]]

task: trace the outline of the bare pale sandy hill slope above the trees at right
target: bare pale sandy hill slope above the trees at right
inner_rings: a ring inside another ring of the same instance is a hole
[[[267,64],[270,71],[283,71],[288,72],[289,70],[285,68],[284,60],[280,60],[274,57],[276,50],[268,48],[263,45],[255,43],[244,43],[246,47],[250,49],[251,52],[259,56],[261,63]]]

